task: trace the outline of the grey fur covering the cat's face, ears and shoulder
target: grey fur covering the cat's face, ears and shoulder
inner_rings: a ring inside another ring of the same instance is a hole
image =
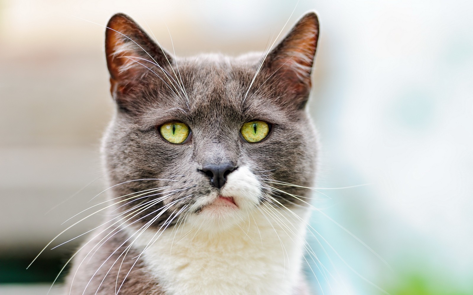
[[[248,165],[261,177],[301,186],[313,184],[316,137],[304,106],[310,91],[310,67],[318,38],[318,20],[315,13],[301,18],[291,33],[263,61],[263,67],[246,98],[245,93],[262,62],[261,54],[248,54],[238,58],[201,55],[175,60],[150,41],[129,17],[123,14],[115,15],[108,26],[113,27],[114,22],[118,21],[125,23],[121,28],[126,36],[115,35],[115,38],[118,38],[120,44],[128,44],[126,49],[133,52],[133,57],[136,58],[130,63],[130,58],[121,57],[120,52],[113,51],[113,46],[109,43],[106,45],[112,78],[112,96],[117,108],[103,142],[105,169],[110,186],[135,179],[148,180],[116,185],[111,189],[110,198],[119,198],[154,187],[166,188],[154,192],[153,195],[145,195],[137,201],[122,202],[114,207],[115,211],[110,210],[110,216],[132,210],[135,206],[147,202],[152,204],[153,200],[170,194],[162,202],[128,221],[142,226],[155,218],[156,213],[153,212],[161,206],[185,197],[172,204],[170,210],[155,219],[151,225],[152,228],[158,229],[167,222],[166,230],[170,230],[179,220],[169,222],[172,214],[186,205],[193,204],[202,195],[217,190],[200,171],[206,164],[230,162],[236,167]],[[315,32],[307,31],[307,24],[312,24]],[[115,33],[108,29],[107,42],[111,34]],[[287,58],[287,47],[293,46],[291,42],[301,42],[302,35],[313,39],[313,51],[304,52],[310,63],[308,73],[304,72],[307,71],[307,65],[295,69],[295,66],[291,65],[292,60],[287,63],[291,59]],[[154,64],[151,57],[160,67]],[[177,87],[177,82],[176,87],[171,85],[169,80],[172,79],[166,78],[165,71],[179,82],[178,84],[181,84],[182,79],[185,92]],[[180,75],[175,76],[173,71],[176,74],[179,71]],[[239,131],[245,122],[255,119],[270,123],[271,132],[259,143],[248,143],[240,136]],[[190,126],[191,140],[183,144],[171,144],[159,135],[157,126],[175,120]],[[307,188],[269,183],[264,185],[268,187],[267,192],[269,188],[278,188],[299,196],[309,194]],[[289,208],[306,206],[288,194],[275,193],[274,197]],[[260,202],[276,206],[264,198]],[[199,210],[185,213],[199,214]],[[103,229],[105,226],[95,231],[92,236]],[[122,258],[118,257],[118,253],[122,253],[122,250],[116,251],[112,258],[100,267],[105,258],[117,248],[125,249],[129,245],[129,242],[126,242],[129,237],[124,231],[117,229],[117,233],[107,239],[91,259],[86,258],[87,263],[84,262],[79,267],[80,261],[92,247],[110,231],[108,229],[96,237],[74,258],[73,268],[67,279],[66,294],[70,288],[71,295],[83,294],[89,279],[97,270],[84,294],[95,294],[97,289],[96,294],[99,295],[114,294],[117,276],[119,282],[123,281],[135,262],[133,258],[142,250],[131,246],[120,270],[118,265]],[[119,262],[113,265],[113,261],[118,258]],[[71,287],[71,280],[76,272]],[[101,287],[98,288],[103,279]],[[301,278],[293,294],[302,295],[308,294],[307,292],[304,279]],[[166,293],[160,289],[158,280],[149,275],[147,266],[138,261],[120,289],[120,294]]]

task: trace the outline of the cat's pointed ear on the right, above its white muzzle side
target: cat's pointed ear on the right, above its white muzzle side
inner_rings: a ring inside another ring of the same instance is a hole
[[[319,38],[319,20],[315,12],[303,16],[289,34],[270,52],[264,67],[280,89],[288,96],[287,103],[304,108],[310,92],[312,66]]]

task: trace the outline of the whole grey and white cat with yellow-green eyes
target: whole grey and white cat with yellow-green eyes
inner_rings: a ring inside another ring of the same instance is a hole
[[[266,56],[176,59],[130,17],[110,19],[109,202],[65,294],[309,294],[318,34],[310,12]]]

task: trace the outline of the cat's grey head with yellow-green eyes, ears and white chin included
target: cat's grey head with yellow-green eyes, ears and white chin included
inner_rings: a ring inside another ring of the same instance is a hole
[[[318,32],[311,12],[267,56],[176,59],[114,15],[105,52],[116,112],[103,152],[115,208],[138,226],[185,218],[225,230],[261,206],[305,206]]]

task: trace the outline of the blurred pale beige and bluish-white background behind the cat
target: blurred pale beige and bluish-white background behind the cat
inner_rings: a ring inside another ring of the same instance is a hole
[[[105,188],[98,150],[113,110],[110,16],[129,14],[168,51],[171,34],[178,56],[238,55],[263,51],[289,17],[284,33],[313,9],[317,186],[363,185],[321,190],[330,199],[314,203],[308,240],[326,268],[307,266],[314,292],[472,295],[466,0],[0,0],[0,294],[45,295],[80,238],[49,248],[100,219],[67,230],[26,270]]]

